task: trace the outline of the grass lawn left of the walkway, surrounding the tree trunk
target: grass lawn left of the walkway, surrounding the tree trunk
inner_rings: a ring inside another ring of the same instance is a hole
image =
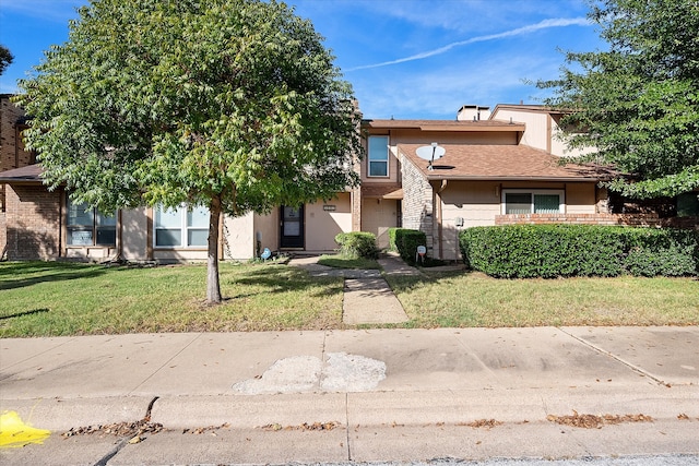
[[[0,336],[342,326],[342,278],[222,263],[218,307],[204,306],[205,279],[205,265],[0,263]]]

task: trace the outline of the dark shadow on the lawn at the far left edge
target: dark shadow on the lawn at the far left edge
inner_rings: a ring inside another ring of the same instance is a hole
[[[95,265],[68,262],[11,262],[0,264],[0,290],[39,283],[96,277],[105,273]]]

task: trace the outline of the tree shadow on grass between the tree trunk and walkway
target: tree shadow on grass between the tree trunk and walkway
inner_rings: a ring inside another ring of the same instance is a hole
[[[264,267],[248,272],[245,276],[234,276],[226,279],[232,285],[263,287],[254,292],[241,292],[227,296],[226,299],[248,298],[261,294],[283,294],[289,291],[305,291],[309,297],[325,297],[342,294],[344,283],[337,277],[312,277],[308,272],[287,266]],[[319,285],[327,285],[318,290]],[[312,289],[316,289],[311,292]]]

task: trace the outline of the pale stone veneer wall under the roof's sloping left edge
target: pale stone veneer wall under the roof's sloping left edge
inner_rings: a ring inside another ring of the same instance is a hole
[[[427,236],[427,253],[435,256],[433,188],[405,156],[401,158],[403,179],[403,228],[420,230]]]

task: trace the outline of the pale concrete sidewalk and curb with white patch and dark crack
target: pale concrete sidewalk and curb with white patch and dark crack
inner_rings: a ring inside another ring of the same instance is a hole
[[[51,431],[3,465],[699,455],[699,327],[5,338],[0,368],[1,409]],[[156,397],[166,430],[97,429]]]

